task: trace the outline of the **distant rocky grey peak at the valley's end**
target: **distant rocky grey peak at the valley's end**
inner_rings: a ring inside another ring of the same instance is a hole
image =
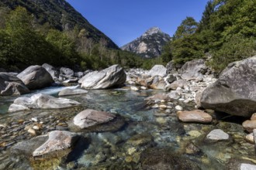
[[[154,58],[161,55],[163,46],[170,40],[171,37],[168,34],[157,27],[153,27],[139,38],[122,46],[121,49],[137,53],[144,58]]]

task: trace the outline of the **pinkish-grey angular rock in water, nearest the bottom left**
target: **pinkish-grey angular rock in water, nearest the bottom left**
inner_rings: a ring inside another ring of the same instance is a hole
[[[48,140],[33,151],[33,156],[46,155],[53,151],[71,148],[79,135],[70,131],[51,131]]]

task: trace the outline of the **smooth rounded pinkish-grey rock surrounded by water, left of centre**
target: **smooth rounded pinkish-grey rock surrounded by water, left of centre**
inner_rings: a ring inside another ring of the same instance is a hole
[[[106,123],[111,121],[116,116],[109,114],[105,111],[97,111],[92,109],[87,109],[81,111],[78,115],[74,117],[74,125],[79,128],[88,128],[96,124]]]

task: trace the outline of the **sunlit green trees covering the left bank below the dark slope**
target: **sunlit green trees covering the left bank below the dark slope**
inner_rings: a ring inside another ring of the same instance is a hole
[[[115,49],[116,45],[114,49],[109,48],[105,36],[97,41],[94,32],[78,25],[64,30],[50,22],[42,25],[43,22],[21,6],[14,10],[2,7],[0,16],[0,67],[6,70],[19,71],[43,63],[81,70],[101,69],[114,63],[138,67],[142,63],[133,53]]]

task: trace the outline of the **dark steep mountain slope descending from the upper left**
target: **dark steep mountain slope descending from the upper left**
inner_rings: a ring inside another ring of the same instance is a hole
[[[61,31],[74,29],[74,27],[85,29],[88,32],[88,38],[92,38],[95,42],[99,42],[101,38],[106,39],[107,47],[118,49],[118,46],[109,37],[92,26],[87,19],[65,0],[0,1],[0,7],[15,9],[17,6],[22,6],[35,15],[37,22],[41,25],[49,23],[50,26]]]

